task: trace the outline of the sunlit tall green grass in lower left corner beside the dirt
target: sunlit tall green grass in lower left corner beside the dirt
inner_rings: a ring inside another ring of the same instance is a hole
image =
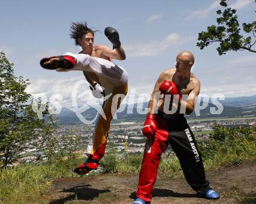
[[[35,203],[49,190],[52,179],[76,176],[70,169],[77,163],[74,156],[51,163],[29,163],[0,170],[0,203]]]

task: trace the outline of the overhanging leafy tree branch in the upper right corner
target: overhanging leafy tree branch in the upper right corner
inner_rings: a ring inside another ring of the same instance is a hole
[[[256,50],[253,49],[256,43],[256,21],[243,23],[243,31],[241,31],[236,9],[227,8],[227,2],[228,0],[221,0],[219,4],[226,9],[223,12],[216,11],[221,16],[216,19],[218,26],[211,25],[207,27],[207,31],[200,32],[197,46],[204,49],[213,42],[220,42],[217,48],[219,55],[226,54],[229,50],[248,50],[256,53]],[[244,34],[247,37],[244,37]]]

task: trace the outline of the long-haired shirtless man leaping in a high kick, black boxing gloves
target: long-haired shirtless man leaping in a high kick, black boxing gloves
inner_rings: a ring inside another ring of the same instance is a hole
[[[112,42],[113,49],[94,45],[94,32],[87,27],[87,23],[72,23],[70,37],[74,39],[77,46],[81,46],[81,52],[79,54],[65,53],[63,56],[47,57],[40,61],[41,66],[49,70],[83,71],[84,77],[90,83],[93,95],[95,97],[101,94],[102,97],[107,96],[102,106],[103,113],[97,118],[95,131],[87,146],[88,159],[74,169],[74,172],[78,174],[86,174],[98,168],[99,159],[105,154],[111,120],[128,90],[126,71],[112,63],[112,59],[126,59],[118,31],[111,27],[105,29],[105,35]],[[98,86],[102,87],[103,92]]]

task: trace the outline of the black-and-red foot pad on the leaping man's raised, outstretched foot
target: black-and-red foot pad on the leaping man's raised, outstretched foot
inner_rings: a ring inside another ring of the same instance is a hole
[[[46,61],[51,60],[52,58],[58,58],[59,61],[52,61],[52,63],[44,64]],[[45,68],[47,70],[56,70],[56,68],[73,68],[74,65],[76,65],[76,59],[74,57],[69,55],[63,55],[63,56],[53,56],[53,57],[45,57],[41,59],[40,65],[42,68]]]

